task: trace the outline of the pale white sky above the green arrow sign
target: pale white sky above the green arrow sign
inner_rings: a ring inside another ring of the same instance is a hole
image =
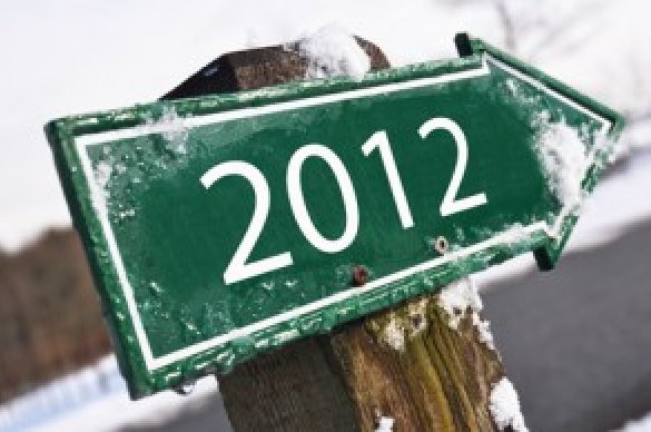
[[[586,4],[589,18],[571,21],[568,47],[555,41],[554,53],[542,43],[531,60],[615,108],[644,101],[649,2],[622,0],[613,9],[601,0],[541,1],[537,11],[561,23],[574,13],[564,3]],[[0,248],[13,252],[48,227],[70,225],[42,131],[48,120],[155,100],[220,53],[295,40],[328,23],[376,42],[396,66],[455,57],[452,39],[463,30],[503,45],[487,0],[3,0]],[[524,51],[544,42],[534,27],[525,35]]]

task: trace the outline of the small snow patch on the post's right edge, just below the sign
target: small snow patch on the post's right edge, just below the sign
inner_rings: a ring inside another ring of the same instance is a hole
[[[484,305],[477,292],[477,287],[470,277],[453,282],[443,287],[438,294],[438,306],[447,313],[447,325],[457,328],[466,311],[472,314],[473,325],[476,327],[480,341],[489,348],[495,350],[493,334],[490,331],[491,323],[482,321],[480,312]]]

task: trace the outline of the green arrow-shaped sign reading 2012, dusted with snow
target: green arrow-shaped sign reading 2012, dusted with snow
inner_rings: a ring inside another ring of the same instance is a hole
[[[134,397],[533,251],[618,114],[476,39],[460,59],[46,127]]]

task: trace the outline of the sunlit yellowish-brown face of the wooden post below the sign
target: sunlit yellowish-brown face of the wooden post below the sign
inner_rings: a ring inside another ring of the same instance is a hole
[[[482,342],[472,311],[458,311],[452,328],[438,301],[413,300],[331,337],[361,430],[373,431],[381,415],[396,431],[494,430],[489,401],[503,375],[500,357]]]

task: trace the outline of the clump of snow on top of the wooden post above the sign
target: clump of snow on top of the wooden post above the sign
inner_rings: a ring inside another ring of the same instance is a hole
[[[348,76],[364,78],[371,60],[357,41],[338,26],[326,26],[298,41],[298,53],[308,61],[306,78]]]

